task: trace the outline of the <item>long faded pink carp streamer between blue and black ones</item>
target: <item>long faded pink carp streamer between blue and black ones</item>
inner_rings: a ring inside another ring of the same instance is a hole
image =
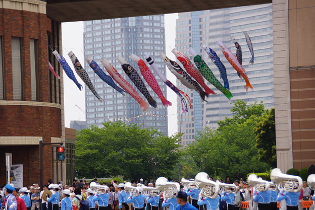
[[[122,87],[132,98],[134,98],[140,105],[141,109],[146,112],[149,111],[149,105],[139,96],[137,91],[117,72],[116,68],[109,63],[106,58],[100,61],[105,67],[110,76]]]

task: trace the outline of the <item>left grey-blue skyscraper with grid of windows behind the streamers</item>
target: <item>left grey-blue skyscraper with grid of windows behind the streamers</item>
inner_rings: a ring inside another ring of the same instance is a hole
[[[144,55],[150,55],[163,74],[165,74],[165,63],[160,58],[159,51],[165,52],[164,15],[84,22],[84,55],[89,55],[95,60],[104,72],[106,70],[100,63],[100,59],[105,57],[145,101],[146,99],[129,80],[123,72],[121,64],[115,58],[117,55],[121,55],[141,75],[137,63],[133,62],[129,55],[134,53],[140,58],[143,58]],[[168,134],[167,109],[144,79],[142,79],[143,82],[159,107],[159,109],[154,109],[150,106],[150,111],[145,115],[143,115],[136,100],[129,94],[126,94],[124,97],[111,86],[104,83],[94,74],[86,62],[85,69],[94,84],[96,92],[104,99],[104,103],[99,102],[92,92],[86,89],[87,126],[102,126],[102,122],[121,119],[125,122],[137,123],[143,128],[153,127],[164,134]],[[152,73],[156,76],[154,72]],[[156,79],[166,97],[166,85],[157,76]]]

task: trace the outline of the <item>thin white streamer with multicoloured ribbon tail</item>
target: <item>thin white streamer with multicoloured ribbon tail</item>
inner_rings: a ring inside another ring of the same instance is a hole
[[[182,105],[182,111],[183,113],[188,112],[188,107],[187,107],[187,102],[189,104],[189,108],[191,108],[191,101],[189,96],[184,93],[183,91],[179,90],[173,83],[171,83],[171,81],[169,81],[160,71],[159,67],[154,63],[153,59],[148,56],[145,55],[144,59],[150,64],[150,66],[152,67],[153,71],[160,77],[160,79],[167,85],[169,86],[169,88],[171,88],[171,90],[173,90],[181,99],[181,105]],[[186,100],[185,100],[186,98]]]

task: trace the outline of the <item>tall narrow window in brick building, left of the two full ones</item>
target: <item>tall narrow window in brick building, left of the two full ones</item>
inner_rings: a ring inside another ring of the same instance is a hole
[[[12,37],[12,77],[13,77],[13,99],[23,99],[23,84],[22,84],[22,54],[21,54],[22,39]]]

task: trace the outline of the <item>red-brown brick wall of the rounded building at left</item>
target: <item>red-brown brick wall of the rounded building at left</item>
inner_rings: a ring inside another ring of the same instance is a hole
[[[48,71],[47,35],[53,34],[51,21],[43,13],[0,9],[0,36],[3,37],[4,91],[6,101],[13,100],[11,38],[22,38],[23,101],[31,101],[30,39],[38,44],[39,102],[51,102],[51,84]],[[54,64],[53,64],[54,65]],[[54,65],[56,69],[56,64]],[[60,85],[58,86],[60,88]],[[60,93],[60,91],[59,91]],[[60,96],[59,96],[60,98]],[[54,101],[61,104],[61,101]],[[0,105],[0,136],[42,136],[43,142],[51,137],[62,137],[62,109],[46,106]],[[0,147],[0,160],[12,153],[13,164],[23,164],[23,186],[39,183],[38,145]],[[43,183],[53,178],[51,147],[43,148]],[[6,182],[5,161],[0,162],[1,184]],[[56,181],[56,180],[54,180]]]

